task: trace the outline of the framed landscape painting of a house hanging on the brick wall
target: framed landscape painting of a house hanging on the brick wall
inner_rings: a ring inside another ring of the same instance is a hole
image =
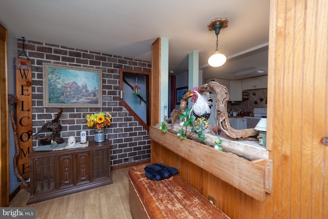
[[[101,69],[43,63],[44,107],[102,107]]]

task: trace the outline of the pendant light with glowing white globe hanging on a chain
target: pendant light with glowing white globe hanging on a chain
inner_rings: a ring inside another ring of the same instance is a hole
[[[220,33],[221,28],[228,27],[228,19],[227,18],[215,18],[210,24],[208,24],[208,28],[210,31],[214,30],[216,35],[216,49],[212,53],[211,57],[209,57],[209,65],[212,67],[219,67],[226,63],[227,57],[223,55],[221,51],[218,50],[217,46],[219,44],[218,35]]]

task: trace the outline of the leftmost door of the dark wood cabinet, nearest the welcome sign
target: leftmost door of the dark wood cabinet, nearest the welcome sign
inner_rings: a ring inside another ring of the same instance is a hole
[[[55,156],[31,158],[32,195],[56,190]]]

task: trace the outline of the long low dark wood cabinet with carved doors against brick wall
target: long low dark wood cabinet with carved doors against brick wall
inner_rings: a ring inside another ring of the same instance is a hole
[[[27,205],[113,183],[111,144],[89,142],[88,147],[29,154],[31,197]]]

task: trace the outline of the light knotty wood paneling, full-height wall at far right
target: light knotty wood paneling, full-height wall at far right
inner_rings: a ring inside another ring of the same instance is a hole
[[[327,2],[275,1],[273,6],[268,88],[272,211],[287,218],[326,218],[327,151],[320,139],[327,135]]]

